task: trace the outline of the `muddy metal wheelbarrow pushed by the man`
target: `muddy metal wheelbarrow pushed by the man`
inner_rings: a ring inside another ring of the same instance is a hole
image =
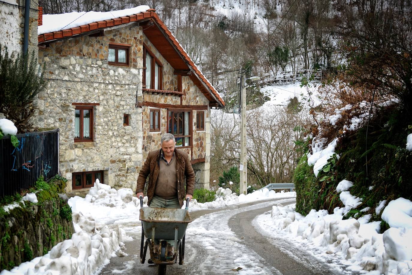
[[[140,263],[145,263],[148,247],[150,259],[159,265],[159,275],[166,274],[166,267],[176,263],[178,256],[179,265],[183,265],[186,228],[192,222],[189,216],[189,198],[186,199],[185,209],[174,209],[143,207],[143,197],[140,196],[139,219],[142,221]],[[170,240],[174,240],[174,243],[172,241],[170,244]]]

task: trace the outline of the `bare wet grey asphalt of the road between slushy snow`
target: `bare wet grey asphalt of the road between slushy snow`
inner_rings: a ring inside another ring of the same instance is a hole
[[[277,201],[273,200],[274,205]],[[266,200],[268,202],[270,200]],[[236,210],[243,207],[247,207],[254,204],[259,204],[265,201],[252,202],[246,204],[233,205],[229,207],[222,207],[219,209],[206,209],[190,212],[192,220],[197,219],[200,216],[207,215],[213,212],[220,212],[225,210]],[[295,201],[289,201],[283,203],[288,205],[295,203]],[[258,206],[257,206],[258,207]],[[273,274],[337,274],[328,270],[328,266],[324,263],[320,263],[313,259],[309,253],[305,253],[304,249],[297,249],[293,244],[286,244],[284,240],[278,240],[278,244],[273,244],[268,239],[262,236],[251,225],[251,221],[258,215],[270,211],[272,206],[254,209],[252,211],[245,211],[234,215],[229,219],[229,227],[232,231],[241,239],[242,244],[246,245],[249,249],[255,251],[256,254],[262,257],[261,262],[267,266],[272,267]],[[140,226],[140,224],[136,224]],[[190,224],[189,224],[190,226]],[[136,233],[137,234],[137,233]],[[144,264],[140,263],[140,234],[131,235],[133,241],[125,242],[126,249],[124,252],[129,254],[124,257],[112,257],[110,263],[101,270],[102,275],[111,274],[125,274],[125,275],[156,275],[158,274],[157,265],[147,264],[147,259],[150,258],[149,251],[147,251],[146,261]],[[288,253],[289,250],[290,252]],[[201,270],[199,266],[203,263],[202,259],[208,254],[208,250],[196,243],[190,242],[190,238],[187,238],[185,245],[185,259],[183,266],[178,263],[167,267],[166,274],[199,274],[199,275],[212,275],[212,274],[236,274],[237,272],[229,271],[223,272],[222,270]],[[295,255],[295,256],[291,256]]]

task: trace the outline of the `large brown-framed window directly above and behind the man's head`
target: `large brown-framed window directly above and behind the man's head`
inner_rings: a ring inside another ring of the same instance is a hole
[[[192,137],[192,131],[190,129],[192,112],[169,110],[168,113],[168,133],[175,136],[176,147],[190,146]]]

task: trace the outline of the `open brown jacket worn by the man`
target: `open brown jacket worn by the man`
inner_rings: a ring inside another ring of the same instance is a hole
[[[180,151],[175,148],[176,160],[176,176],[178,179],[178,199],[180,206],[183,206],[186,194],[193,195],[194,189],[194,171],[192,165],[190,164],[189,156],[187,153]],[[147,198],[148,204],[155,193],[155,184],[157,181],[157,176],[159,176],[159,161],[160,161],[160,150],[151,151],[147,155],[147,159],[142,169],[140,169],[139,176],[137,178],[137,188],[136,193],[143,192],[145,188],[146,178],[149,176],[149,183],[147,185]],[[186,192],[184,180],[186,176]]]

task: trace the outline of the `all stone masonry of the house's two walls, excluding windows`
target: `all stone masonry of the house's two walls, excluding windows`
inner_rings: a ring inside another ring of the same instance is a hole
[[[72,173],[103,170],[103,182],[114,188],[136,189],[138,172],[150,150],[160,148],[166,133],[168,109],[161,108],[161,131],[149,132],[150,108],[136,107],[136,101],[180,105],[180,97],[143,94],[143,42],[163,63],[163,89],[177,86],[169,64],[145,37],[136,23],[105,29],[103,36],[88,35],[51,42],[39,47],[39,63],[45,65],[47,87],[35,104],[35,125],[40,129],[60,129],[60,171],[72,182]],[[130,66],[108,64],[110,43],[130,45]],[[183,105],[209,102],[189,77],[182,77]],[[76,104],[77,103],[77,104]],[[75,108],[93,108],[93,141],[75,142]],[[192,148],[183,148],[193,159],[197,187],[209,186],[210,108],[205,112],[205,130],[196,131],[196,110],[192,110]],[[123,125],[124,114],[129,126]],[[73,192],[68,184],[67,192]]]

